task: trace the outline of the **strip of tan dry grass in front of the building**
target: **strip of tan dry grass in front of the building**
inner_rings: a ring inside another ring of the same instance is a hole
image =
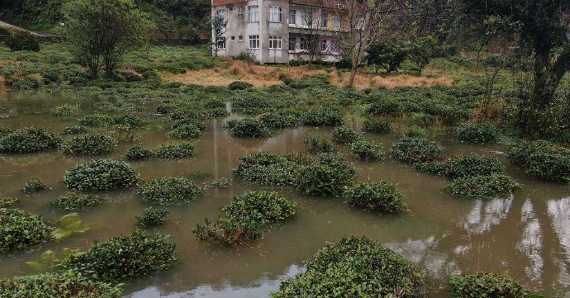
[[[287,77],[297,79],[300,77],[311,77],[315,73],[327,73],[322,69],[307,68],[307,66],[264,66],[264,65],[248,65],[246,62],[234,61],[229,68],[203,69],[201,71],[188,71],[180,75],[169,75],[161,73],[166,80],[174,82],[182,82],[184,84],[200,84],[200,85],[217,85],[227,86],[231,82],[237,80],[248,82],[253,86],[270,86],[274,84],[282,84],[279,81],[279,73],[284,73]],[[349,73],[344,73],[338,77],[336,71],[331,74],[331,83],[337,86],[344,86],[348,80]],[[432,86],[434,84],[451,85],[453,81],[447,77],[414,77],[412,75],[392,75],[382,77],[380,75],[362,75],[358,74],[354,78],[354,86],[357,89],[378,88],[386,86],[394,88],[396,86]]]

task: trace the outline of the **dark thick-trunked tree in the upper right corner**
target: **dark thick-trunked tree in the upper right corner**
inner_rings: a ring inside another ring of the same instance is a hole
[[[516,35],[521,48],[532,56],[533,86],[529,94],[521,96],[517,124],[526,133],[552,132],[557,122],[551,113],[554,94],[570,68],[570,1],[463,0],[463,3],[466,16],[477,17],[479,24],[497,24],[499,30]]]

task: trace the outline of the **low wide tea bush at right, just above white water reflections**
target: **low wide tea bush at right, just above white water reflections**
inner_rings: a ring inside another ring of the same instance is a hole
[[[492,174],[457,178],[453,183],[445,185],[443,191],[451,196],[494,198],[511,194],[519,188],[520,184],[513,178],[503,174]]]

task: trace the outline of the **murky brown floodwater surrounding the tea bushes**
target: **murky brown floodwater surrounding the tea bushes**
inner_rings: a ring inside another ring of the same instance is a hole
[[[57,118],[49,113],[53,106],[80,103],[78,117],[95,111],[94,102],[108,98],[70,95],[30,95],[0,93],[0,126],[46,127],[62,131],[75,120]],[[147,106],[151,111],[154,106]],[[113,113],[109,113],[113,114]],[[237,118],[232,115],[232,118]],[[265,140],[232,139],[223,124],[227,119],[210,120],[208,130],[196,143],[196,157],[174,161],[131,162],[140,176],[151,180],[161,176],[187,176],[202,185],[217,178],[232,178],[239,156],[259,151],[284,153],[303,151],[303,136],[330,140],[329,128],[298,128],[273,133]],[[118,151],[105,158],[118,159],[132,145],[154,148],[167,142],[165,133],[172,122],[167,118],[152,120],[138,131],[138,140],[120,143]],[[360,131],[360,124],[349,126]],[[165,127],[166,129],[158,129]],[[401,136],[365,134],[365,138],[383,144],[389,156],[392,142]],[[382,215],[364,212],[340,198],[302,196],[294,189],[264,187],[232,178],[228,189],[210,188],[208,195],[192,203],[170,206],[171,214],[160,234],[170,235],[176,243],[176,257],[182,261],[164,272],[131,281],[123,297],[268,297],[279,288],[279,279],[303,270],[303,261],[320,248],[338,241],[343,235],[369,236],[417,263],[432,287],[428,297],[449,297],[444,290],[450,275],[475,271],[502,273],[508,270],[522,284],[544,293],[546,297],[570,297],[570,187],[533,180],[524,171],[508,164],[505,147],[466,145],[449,138],[441,140],[446,153],[495,154],[506,166],[507,174],[524,187],[506,198],[467,200],[441,192],[448,180],[421,174],[412,167],[387,157],[384,162],[356,162],[360,180],[387,180],[398,183],[405,194],[410,213]],[[346,147],[340,150],[351,159]],[[43,214],[44,221],[55,222],[66,214],[46,207],[66,193],[62,183],[65,171],[89,157],[66,157],[57,151],[0,156],[0,196],[21,199],[21,209]],[[40,194],[19,191],[26,181],[39,178],[52,190]],[[191,230],[196,223],[210,221],[221,214],[220,207],[232,196],[251,189],[277,190],[298,204],[299,216],[293,221],[266,227],[265,238],[248,246],[219,247],[202,243]],[[0,254],[0,279],[38,271],[26,262],[37,261],[46,250],[61,255],[64,248],[86,250],[94,239],[105,241],[129,234],[136,226],[135,215],[148,205],[136,189],[104,192],[108,203],[78,212],[82,227],[89,230],[63,241],[47,241],[31,251]],[[154,228],[147,229],[154,232]],[[45,269],[44,271],[49,271]]]

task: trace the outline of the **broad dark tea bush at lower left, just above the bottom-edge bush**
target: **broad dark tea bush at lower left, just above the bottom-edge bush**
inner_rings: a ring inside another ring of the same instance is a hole
[[[153,274],[169,268],[176,261],[176,245],[169,243],[167,238],[134,230],[128,236],[113,237],[103,243],[95,240],[89,250],[71,254],[61,266],[108,283]]]

